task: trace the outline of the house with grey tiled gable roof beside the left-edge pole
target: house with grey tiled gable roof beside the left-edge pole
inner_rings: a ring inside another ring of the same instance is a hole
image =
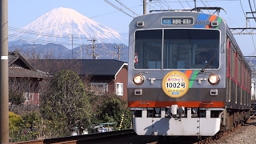
[[[39,105],[39,83],[49,75],[35,70],[20,54],[8,53],[9,90],[23,94],[26,105]],[[11,99],[12,95],[9,94]],[[10,102],[10,105],[12,102]]]

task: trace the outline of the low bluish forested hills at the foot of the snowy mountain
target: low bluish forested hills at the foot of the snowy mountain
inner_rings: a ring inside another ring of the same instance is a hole
[[[12,43],[12,44],[11,44]],[[74,50],[69,50],[65,46],[47,43],[47,44],[29,44],[22,41],[9,42],[8,50],[10,52],[18,50],[24,58],[56,58],[56,59],[92,59],[92,45],[82,45],[74,47]],[[16,45],[18,44],[18,45]],[[20,45],[21,44],[21,45]],[[98,59],[118,59],[117,43],[98,43],[94,49]],[[128,46],[120,44],[121,49],[120,60],[128,61]]]

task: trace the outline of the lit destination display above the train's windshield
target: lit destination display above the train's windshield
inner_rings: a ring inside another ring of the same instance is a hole
[[[162,25],[170,26],[170,25],[193,25],[194,18],[162,18]]]

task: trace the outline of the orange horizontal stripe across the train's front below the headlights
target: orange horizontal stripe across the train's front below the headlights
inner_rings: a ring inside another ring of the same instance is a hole
[[[225,102],[155,102],[155,101],[134,101],[128,102],[129,107],[166,107],[171,105],[185,107],[225,107]]]

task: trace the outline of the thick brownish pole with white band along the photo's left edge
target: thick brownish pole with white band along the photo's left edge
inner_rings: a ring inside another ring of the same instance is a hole
[[[8,0],[0,2],[0,142],[9,142],[9,83],[8,83]]]

